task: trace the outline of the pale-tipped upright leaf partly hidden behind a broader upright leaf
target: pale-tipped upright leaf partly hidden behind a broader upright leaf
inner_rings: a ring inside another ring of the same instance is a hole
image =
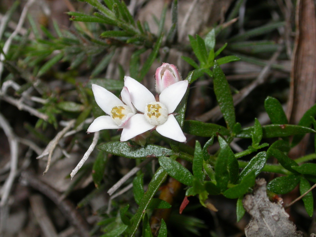
[[[221,149],[224,150],[222,155],[225,155],[228,161],[229,181],[234,184],[238,178],[239,173],[238,161],[234,152],[224,138],[218,136],[218,142],[220,143]]]

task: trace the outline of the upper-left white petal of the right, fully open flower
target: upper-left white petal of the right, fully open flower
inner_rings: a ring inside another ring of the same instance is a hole
[[[146,87],[130,76],[125,76],[124,85],[128,88],[131,101],[138,111],[145,112],[146,104],[156,101],[155,96]]]

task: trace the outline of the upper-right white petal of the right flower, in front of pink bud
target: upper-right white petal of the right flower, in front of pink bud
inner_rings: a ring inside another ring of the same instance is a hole
[[[188,88],[188,84],[187,80],[180,81],[168,86],[161,92],[159,102],[167,107],[168,113],[173,113],[177,108]]]

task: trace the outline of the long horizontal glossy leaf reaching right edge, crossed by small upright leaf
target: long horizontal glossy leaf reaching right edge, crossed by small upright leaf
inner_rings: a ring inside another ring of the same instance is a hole
[[[236,137],[242,138],[251,138],[252,137],[253,127],[247,127],[241,130]],[[306,134],[314,133],[315,130],[307,127],[302,127],[299,125],[290,125],[290,124],[271,124],[262,126],[263,138],[271,137],[288,137],[291,135],[297,134]]]

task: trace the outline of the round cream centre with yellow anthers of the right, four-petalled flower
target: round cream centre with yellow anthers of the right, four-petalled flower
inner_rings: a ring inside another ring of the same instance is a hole
[[[168,119],[168,109],[164,104],[155,101],[146,105],[144,115],[151,125],[161,125]]]

